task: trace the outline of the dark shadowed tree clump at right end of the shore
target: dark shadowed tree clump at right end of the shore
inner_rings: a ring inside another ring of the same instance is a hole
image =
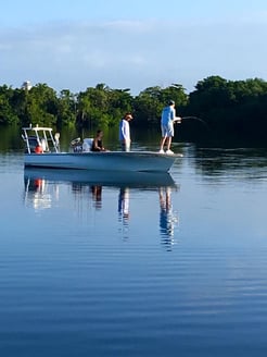
[[[188,110],[204,118],[223,135],[265,136],[267,130],[267,82],[226,81],[211,76],[189,95]]]

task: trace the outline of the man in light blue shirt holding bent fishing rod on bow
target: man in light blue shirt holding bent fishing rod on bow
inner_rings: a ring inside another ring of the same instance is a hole
[[[175,134],[174,131],[174,123],[181,122],[180,116],[176,116],[176,110],[175,110],[175,101],[170,100],[168,102],[168,106],[165,107],[162,111],[162,120],[161,120],[161,126],[162,126],[162,139],[161,139],[161,148],[160,152],[164,153],[164,145],[166,144],[167,150],[166,153],[174,153],[174,151],[170,150],[170,144],[171,138]]]

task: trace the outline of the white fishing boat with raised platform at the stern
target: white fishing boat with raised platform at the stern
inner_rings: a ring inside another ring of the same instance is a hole
[[[71,141],[69,151],[61,151],[60,134],[51,127],[23,127],[25,168],[76,169],[120,172],[169,172],[182,155],[154,151],[91,151],[91,138]]]

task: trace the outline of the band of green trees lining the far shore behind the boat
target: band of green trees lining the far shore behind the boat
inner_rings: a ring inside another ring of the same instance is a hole
[[[0,86],[0,127],[38,124],[61,128],[72,126],[117,126],[125,112],[132,112],[132,126],[160,125],[163,107],[173,99],[177,115],[185,118],[179,136],[265,139],[267,133],[267,82],[260,78],[228,81],[209,76],[190,94],[180,84],[149,87],[138,96],[130,89],[113,89],[105,84],[73,94],[56,93],[47,84],[21,88]]]

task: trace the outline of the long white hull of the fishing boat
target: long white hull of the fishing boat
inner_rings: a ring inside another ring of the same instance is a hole
[[[25,153],[25,167],[98,171],[168,172],[178,155],[152,151]]]

